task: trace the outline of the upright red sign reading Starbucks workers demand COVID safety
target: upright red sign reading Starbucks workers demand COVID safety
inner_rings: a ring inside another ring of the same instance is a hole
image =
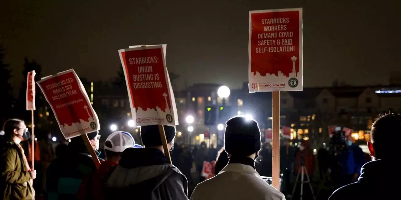
[[[249,92],[302,90],[302,8],[249,11]]]

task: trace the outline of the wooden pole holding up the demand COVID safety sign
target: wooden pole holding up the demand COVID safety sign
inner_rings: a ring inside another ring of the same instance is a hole
[[[273,91],[273,187],[280,190],[280,92]]]

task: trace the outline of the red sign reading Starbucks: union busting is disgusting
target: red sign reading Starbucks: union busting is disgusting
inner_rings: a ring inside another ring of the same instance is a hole
[[[128,48],[118,52],[136,125],[178,125],[163,46]]]

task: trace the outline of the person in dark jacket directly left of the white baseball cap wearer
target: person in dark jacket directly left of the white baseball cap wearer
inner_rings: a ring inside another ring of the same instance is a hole
[[[95,149],[95,143],[99,141],[99,132],[91,132],[87,136]],[[71,138],[71,142],[67,146],[67,153],[55,158],[47,168],[48,200],[77,199],[76,195],[83,178],[94,170],[96,170],[96,165],[82,137]]]

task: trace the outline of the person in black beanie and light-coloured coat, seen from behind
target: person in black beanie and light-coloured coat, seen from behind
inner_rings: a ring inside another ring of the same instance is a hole
[[[229,162],[215,177],[198,184],[191,200],[285,200],[255,170],[255,159],[261,148],[257,122],[235,116],[226,124],[224,148]]]

